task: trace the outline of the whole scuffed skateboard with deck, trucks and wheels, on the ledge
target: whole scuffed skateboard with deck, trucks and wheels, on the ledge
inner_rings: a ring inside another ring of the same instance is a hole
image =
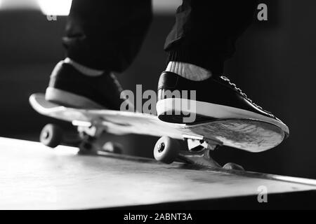
[[[279,145],[286,133],[276,125],[252,119],[214,119],[192,125],[165,123],[157,116],[96,109],[75,109],[45,100],[44,94],[29,97],[33,109],[44,116],[65,120],[77,127],[79,153],[100,151],[119,153],[118,144],[101,141],[106,133],[143,134],[160,137],[154,146],[154,158],[170,164],[174,161],[220,167],[210,156],[210,151],[220,146],[230,146],[243,151],[259,153]],[[40,141],[55,148],[67,142],[62,130],[48,124],[41,131]],[[228,167],[237,167],[228,164]],[[226,166],[226,167],[227,167]],[[237,169],[236,168],[236,169]]]

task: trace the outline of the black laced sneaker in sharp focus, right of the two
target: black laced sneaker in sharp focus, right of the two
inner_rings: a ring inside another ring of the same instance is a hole
[[[190,90],[195,90],[195,93]],[[275,124],[289,133],[287,125],[272,113],[254,104],[225,76],[193,81],[176,73],[164,71],[158,83],[157,115],[160,120],[169,123],[251,118]]]

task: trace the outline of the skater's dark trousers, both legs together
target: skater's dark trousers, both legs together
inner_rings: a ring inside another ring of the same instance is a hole
[[[255,9],[256,0],[183,0],[164,45],[167,61],[222,73]],[[95,69],[124,71],[151,20],[150,0],[73,0],[63,38],[67,57]]]

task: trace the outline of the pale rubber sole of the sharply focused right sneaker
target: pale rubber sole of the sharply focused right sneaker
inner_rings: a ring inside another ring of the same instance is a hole
[[[282,123],[281,120],[275,120],[258,113],[237,109],[230,106],[223,106],[219,104],[211,104],[206,102],[199,102],[190,99],[168,98],[157,102],[157,115],[171,115],[172,114],[197,114],[199,116],[206,116],[218,119],[241,118],[262,120],[271,123],[281,128],[284,132],[289,134],[289,127]]]

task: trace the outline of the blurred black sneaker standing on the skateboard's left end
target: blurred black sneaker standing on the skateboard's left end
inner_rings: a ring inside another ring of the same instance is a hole
[[[63,106],[82,109],[119,110],[122,88],[110,72],[86,76],[71,64],[59,62],[51,74],[45,98]]]

